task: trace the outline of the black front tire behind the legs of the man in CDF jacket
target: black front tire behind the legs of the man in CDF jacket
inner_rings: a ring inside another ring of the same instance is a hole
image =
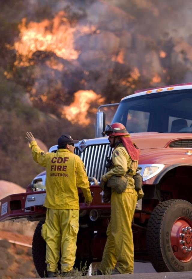
[[[47,277],[46,273],[46,263],[45,263],[45,254],[46,254],[46,242],[41,236],[41,227],[44,224],[44,221],[40,221],[35,229],[34,235],[33,235],[33,242],[32,242],[32,255],[33,255],[33,261],[35,264],[35,268],[41,278]],[[83,232],[83,231],[82,231]],[[81,229],[79,229],[78,235],[77,235],[77,246],[81,242]],[[79,236],[79,237],[78,237]],[[77,250],[78,252],[78,250]],[[87,268],[85,268],[85,264]],[[76,253],[76,259],[74,268],[78,269],[79,271],[83,271],[83,275],[86,275],[86,271],[89,268],[89,265],[91,264],[91,260],[81,258],[80,253]],[[58,270],[60,270],[61,266],[60,263],[58,263]]]

